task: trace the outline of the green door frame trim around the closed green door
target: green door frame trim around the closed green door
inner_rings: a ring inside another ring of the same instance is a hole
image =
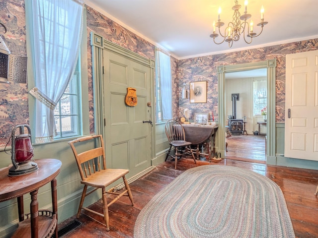
[[[147,59],[137,53],[125,49],[117,44],[114,44],[108,40],[105,40],[102,36],[95,32],[90,32],[90,45],[92,47],[92,78],[93,78],[93,90],[94,90],[94,125],[95,133],[101,134],[105,138],[104,131],[104,103],[102,100],[104,89],[104,68],[103,68],[103,50],[110,51],[112,53],[123,56],[129,60],[133,60],[145,66],[149,66],[151,69],[150,75],[150,90],[151,90],[151,104],[154,105],[154,77],[155,77],[155,60]],[[151,107],[151,120],[154,121],[154,107]],[[106,122],[107,123],[107,122]],[[151,130],[151,158],[155,158],[155,126]]]

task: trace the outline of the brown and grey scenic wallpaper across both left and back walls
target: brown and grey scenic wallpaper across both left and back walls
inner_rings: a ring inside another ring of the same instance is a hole
[[[90,132],[94,132],[92,57],[89,40],[91,31],[146,58],[155,59],[155,46],[145,39],[110,20],[93,8],[87,10],[87,63]],[[7,32],[0,35],[12,55],[26,57],[25,6],[24,0],[1,0],[0,22]],[[284,122],[285,114],[285,56],[286,54],[318,50],[318,39],[281,44],[234,53],[177,60],[171,57],[173,117],[180,116],[184,108],[195,112],[213,112],[218,120],[218,78],[217,66],[239,64],[267,59],[277,59],[276,69],[276,122]],[[189,103],[181,99],[180,89],[185,82],[207,81],[207,103]],[[17,124],[29,124],[28,86],[23,83],[0,83],[0,147],[5,146],[12,128]]]

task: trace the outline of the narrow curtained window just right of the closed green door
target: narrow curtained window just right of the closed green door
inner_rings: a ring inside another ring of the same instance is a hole
[[[156,120],[172,119],[172,83],[170,57],[156,49]]]

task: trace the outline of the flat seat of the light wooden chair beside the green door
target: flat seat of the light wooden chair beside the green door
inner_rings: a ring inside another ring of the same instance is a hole
[[[101,170],[96,174],[90,175],[88,178],[81,180],[80,183],[86,184],[92,187],[106,187],[112,182],[120,179],[124,175],[128,174],[129,170],[124,169],[106,169]]]

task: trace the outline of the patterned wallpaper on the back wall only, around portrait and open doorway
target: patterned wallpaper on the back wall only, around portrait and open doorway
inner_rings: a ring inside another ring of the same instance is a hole
[[[179,60],[179,85],[183,85],[185,82],[189,89],[189,82],[208,82],[207,103],[190,103],[189,99],[179,99],[179,116],[182,115],[184,108],[188,108],[191,110],[192,117],[196,112],[210,113],[210,115],[212,115],[213,112],[214,119],[218,120],[217,67],[219,65],[232,65],[276,59],[276,122],[284,122],[286,55],[313,50],[318,50],[318,39]]]

